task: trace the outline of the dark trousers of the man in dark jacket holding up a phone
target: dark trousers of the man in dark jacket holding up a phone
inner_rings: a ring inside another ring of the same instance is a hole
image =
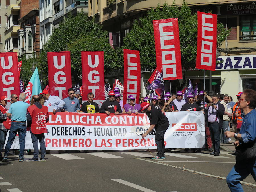
[[[209,123],[212,145],[215,153],[220,153],[220,128],[219,123]]]

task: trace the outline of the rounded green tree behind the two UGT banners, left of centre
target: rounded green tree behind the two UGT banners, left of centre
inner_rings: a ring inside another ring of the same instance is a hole
[[[43,82],[48,81],[47,52],[70,51],[71,74],[76,82],[82,79],[81,51],[104,50],[104,70],[109,73],[113,69],[120,69],[117,55],[108,42],[108,32],[102,30],[99,24],[88,20],[87,15],[71,14],[55,28],[40,53],[39,71],[43,71]],[[39,72],[40,73],[40,72]]]

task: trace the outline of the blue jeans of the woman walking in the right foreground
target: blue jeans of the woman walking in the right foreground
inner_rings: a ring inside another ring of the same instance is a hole
[[[249,174],[256,181],[256,159],[245,163],[236,163],[227,176],[230,191],[243,191],[240,181],[243,181]]]

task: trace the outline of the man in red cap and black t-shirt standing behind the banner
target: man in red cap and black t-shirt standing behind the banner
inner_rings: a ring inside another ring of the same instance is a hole
[[[100,107],[100,113],[106,113],[107,115],[110,115],[110,113],[115,113],[115,115],[122,113],[120,104],[115,101],[114,91],[110,91],[108,93],[108,97],[109,99],[102,103],[102,106]]]

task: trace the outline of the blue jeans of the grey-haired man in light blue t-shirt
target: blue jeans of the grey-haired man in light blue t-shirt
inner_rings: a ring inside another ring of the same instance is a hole
[[[9,155],[11,146],[13,144],[13,141],[15,139],[16,134],[19,134],[19,142],[20,142],[20,158],[24,156],[24,150],[25,150],[25,138],[26,138],[26,132],[27,132],[27,126],[26,123],[20,123],[20,122],[12,122],[11,128],[9,131],[9,137],[7,144],[5,146],[5,156]]]

